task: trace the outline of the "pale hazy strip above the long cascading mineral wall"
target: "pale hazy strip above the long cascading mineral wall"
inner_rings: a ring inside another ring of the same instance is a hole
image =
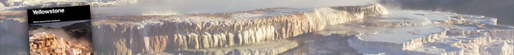
[[[175,11],[177,14],[248,11],[270,7],[309,8],[323,6],[356,6],[377,3],[376,0],[171,0],[138,1],[123,7],[99,7],[98,13],[133,14],[138,11]],[[95,9],[95,8],[94,8]],[[126,13],[127,11],[133,11]]]

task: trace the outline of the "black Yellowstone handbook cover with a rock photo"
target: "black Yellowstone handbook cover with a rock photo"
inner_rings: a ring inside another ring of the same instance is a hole
[[[31,55],[93,54],[90,6],[27,9]]]

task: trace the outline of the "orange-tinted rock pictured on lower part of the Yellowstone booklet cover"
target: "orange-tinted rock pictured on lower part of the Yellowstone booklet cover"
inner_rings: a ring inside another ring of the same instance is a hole
[[[31,55],[91,55],[91,47],[71,44],[54,34],[38,33],[29,37]]]

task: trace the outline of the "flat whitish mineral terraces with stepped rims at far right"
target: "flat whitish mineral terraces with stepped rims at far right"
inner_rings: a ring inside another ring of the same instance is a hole
[[[390,11],[389,15],[405,16],[379,16],[379,19],[366,18],[363,19],[364,22],[354,21],[339,25],[347,26],[350,29],[362,29],[358,30],[361,31],[360,34],[348,40],[349,45],[362,54],[513,54],[512,52],[499,52],[499,50],[513,51],[513,26],[496,25],[494,18],[436,11]],[[426,22],[420,22],[420,19]],[[376,24],[372,24],[373,22]],[[409,23],[426,24],[413,25]],[[337,31],[334,28],[331,30]],[[332,31],[321,32],[335,33]]]

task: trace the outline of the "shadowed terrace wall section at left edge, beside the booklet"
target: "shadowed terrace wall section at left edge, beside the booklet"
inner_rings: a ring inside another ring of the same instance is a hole
[[[14,15],[14,14],[13,14]],[[24,17],[9,16],[0,13],[0,53],[1,54],[29,54],[29,35]]]

